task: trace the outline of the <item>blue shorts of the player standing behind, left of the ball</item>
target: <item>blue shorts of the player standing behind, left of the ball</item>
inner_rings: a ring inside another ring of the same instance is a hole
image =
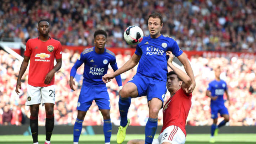
[[[76,110],[87,111],[95,100],[100,110],[110,110],[110,98],[107,87],[92,88],[82,85]]]

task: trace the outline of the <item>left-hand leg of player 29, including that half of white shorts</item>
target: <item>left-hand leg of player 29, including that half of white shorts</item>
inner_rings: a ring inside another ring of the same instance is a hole
[[[38,144],[38,112],[41,101],[41,87],[28,85],[26,106],[30,106],[30,129],[34,144]]]

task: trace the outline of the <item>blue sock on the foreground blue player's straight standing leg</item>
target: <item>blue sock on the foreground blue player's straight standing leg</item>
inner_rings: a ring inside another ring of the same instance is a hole
[[[153,142],[158,124],[158,118],[150,118],[145,127],[145,144],[151,144]]]

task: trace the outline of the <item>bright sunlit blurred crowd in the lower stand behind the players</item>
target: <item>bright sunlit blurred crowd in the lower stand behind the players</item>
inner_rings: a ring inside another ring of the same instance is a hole
[[[55,73],[55,124],[73,125],[77,116],[76,103],[82,84],[84,66],[80,66],[75,76],[76,90],[69,88],[70,69],[79,57],[79,53],[64,49],[62,68]],[[121,67],[131,55],[116,55],[118,67]],[[225,103],[230,114],[230,126],[255,126],[256,125],[256,63],[255,57],[241,59],[239,57],[191,57],[191,65],[197,82],[193,91],[192,107],[188,115],[187,124],[191,126],[211,125],[210,98],[206,96],[207,85],[214,79],[213,69],[221,66],[221,79],[228,84],[231,105]],[[21,62],[0,50],[0,124],[29,123],[30,109],[25,106],[27,95],[28,69],[22,77],[21,94],[15,92],[16,80]],[[132,79],[137,66],[121,75],[123,84]],[[113,71],[110,67],[108,73]],[[107,83],[111,101],[110,117],[115,125],[120,124],[118,111],[118,85],[113,79]],[[169,99],[167,92],[165,102]],[[128,118],[133,126],[145,126],[148,120],[148,105],[146,97],[132,98]],[[159,112],[159,125],[162,125],[162,110]],[[40,105],[39,125],[45,124],[45,108]],[[222,118],[219,118],[222,121]],[[103,118],[95,102],[87,111],[84,125],[102,125]]]

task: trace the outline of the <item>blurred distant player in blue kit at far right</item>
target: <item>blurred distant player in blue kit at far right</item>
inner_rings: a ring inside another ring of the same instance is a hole
[[[206,95],[211,98],[210,108],[213,119],[210,143],[215,142],[214,135],[217,135],[219,128],[225,126],[225,124],[229,121],[228,109],[225,107],[223,99],[223,95],[225,92],[227,100],[229,101],[228,88],[226,82],[220,79],[220,68],[218,67],[214,71],[215,80],[209,83],[206,91]],[[224,117],[224,120],[220,122],[219,125],[217,126],[218,113],[220,113],[220,115]]]

